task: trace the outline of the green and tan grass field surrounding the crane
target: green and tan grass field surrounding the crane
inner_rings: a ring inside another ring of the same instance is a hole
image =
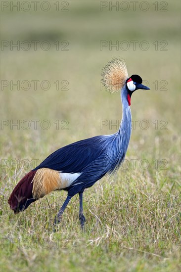
[[[4,2],[0,271],[180,271],[180,1],[144,1],[147,11],[142,1],[135,11],[131,3],[123,11],[123,1],[111,10],[109,1],[52,0],[48,11],[39,4],[34,11],[32,1],[28,11]],[[151,90],[132,97],[126,161],[84,193],[86,231],[76,195],[52,232],[64,191],[14,215],[7,204],[13,187],[47,155],[118,129],[120,94],[100,80],[119,56]]]

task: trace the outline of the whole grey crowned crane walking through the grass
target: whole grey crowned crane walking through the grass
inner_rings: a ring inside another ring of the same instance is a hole
[[[55,223],[60,221],[72,196],[79,193],[79,219],[81,227],[84,227],[83,192],[103,176],[114,174],[120,167],[132,132],[131,96],[137,89],[149,90],[141,84],[142,79],[138,75],[128,78],[126,63],[122,59],[109,62],[102,75],[103,84],[110,92],[121,90],[123,112],[118,132],[80,140],[49,155],[14,188],[8,200],[14,212],[25,210],[52,190],[63,189],[68,191],[68,196]]]

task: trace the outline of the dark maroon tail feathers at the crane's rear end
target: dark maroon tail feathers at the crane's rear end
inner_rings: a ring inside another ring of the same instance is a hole
[[[32,202],[36,201],[36,199],[33,198],[33,183],[31,183],[36,172],[37,171],[35,170],[26,174],[12,191],[8,203],[15,214],[26,210]]]

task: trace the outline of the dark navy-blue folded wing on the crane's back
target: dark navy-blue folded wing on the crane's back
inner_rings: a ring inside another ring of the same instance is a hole
[[[66,145],[49,155],[34,170],[49,168],[62,173],[81,173],[104,152],[102,137],[95,136]]]

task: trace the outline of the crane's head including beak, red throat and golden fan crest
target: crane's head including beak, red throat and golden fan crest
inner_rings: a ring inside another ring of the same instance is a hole
[[[128,77],[126,62],[122,58],[113,58],[103,68],[102,84],[111,93],[122,90],[122,96],[128,99],[131,105],[132,93],[138,89],[150,90],[147,86],[142,85],[142,79],[138,75]]]

